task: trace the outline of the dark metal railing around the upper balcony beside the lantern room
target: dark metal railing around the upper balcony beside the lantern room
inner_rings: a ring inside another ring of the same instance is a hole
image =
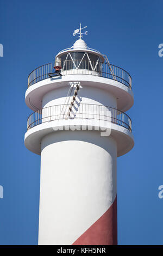
[[[28,87],[49,78],[49,74],[54,73],[52,63],[48,63],[36,68],[28,76]],[[131,89],[131,76],[124,69],[118,66],[92,62],[89,60],[65,60],[62,62],[62,75],[96,75],[123,83]]]

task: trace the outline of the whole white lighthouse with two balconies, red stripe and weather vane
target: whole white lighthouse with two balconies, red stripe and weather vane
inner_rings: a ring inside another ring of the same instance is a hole
[[[117,244],[117,157],[133,148],[131,77],[79,39],[30,73],[26,147],[41,155],[39,245]]]

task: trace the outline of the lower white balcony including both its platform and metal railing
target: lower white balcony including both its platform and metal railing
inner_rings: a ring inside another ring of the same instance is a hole
[[[62,131],[98,131],[98,136],[112,136],[117,141],[118,156],[134,146],[129,116],[112,107],[70,104],[42,108],[28,118],[25,145],[33,153],[41,153],[41,140],[48,133]],[[77,108],[78,106],[78,108]]]

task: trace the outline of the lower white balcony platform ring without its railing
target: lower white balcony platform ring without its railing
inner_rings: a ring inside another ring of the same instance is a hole
[[[86,131],[98,131],[99,136],[114,137],[117,142],[117,156],[122,156],[128,153],[128,151],[134,147],[133,134],[125,127],[110,122],[99,123],[99,120],[94,120],[92,123],[92,120],[87,119],[54,120],[36,125],[26,132],[24,144],[26,145],[27,149],[40,155],[41,140],[44,136],[52,132],[57,136],[57,131],[62,131],[64,133],[68,132],[69,130],[74,132],[76,130],[83,131],[82,126],[87,127],[87,129],[85,129]],[[104,129],[108,130],[105,132]]]

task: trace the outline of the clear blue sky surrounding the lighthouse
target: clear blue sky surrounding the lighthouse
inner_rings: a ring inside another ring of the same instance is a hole
[[[0,244],[37,244],[40,156],[23,144],[27,117],[27,77],[37,66],[73,45],[82,22],[91,48],[133,78],[135,147],[118,158],[119,245],[163,245],[162,75],[163,2],[0,1],[1,161]]]

